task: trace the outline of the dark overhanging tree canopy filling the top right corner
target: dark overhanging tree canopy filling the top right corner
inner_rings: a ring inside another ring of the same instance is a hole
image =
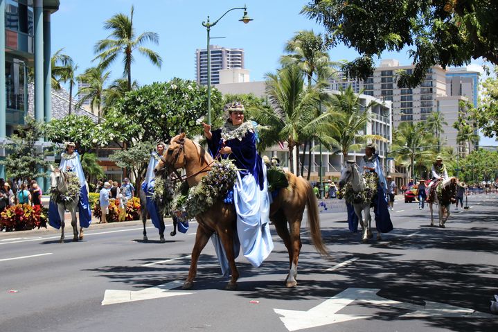
[[[332,46],[360,54],[344,66],[349,76],[371,76],[374,57],[406,46],[415,68],[400,73],[400,87],[416,87],[435,64],[459,67],[480,57],[498,64],[496,1],[314,0],[301,13],[323,24]]]

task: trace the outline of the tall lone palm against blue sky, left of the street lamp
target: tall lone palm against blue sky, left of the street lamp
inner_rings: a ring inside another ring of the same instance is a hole
[[[105,21],[104,28],[111,30],[111,34],[105,40],[100,40],[95,45],[95,53],[98,55],[94,60],[100,60],[99,67],[107,69],[120,54],[123,54],[123,64],[125,64],[124,75],[128,80],[128,91],[132,89],[132,62],[134,61],[133,51],[138,51],[152,62],[155,66],[161,68],[163,60],[158,53],[142,46],[145,42],[159,44],[159,35],[157,33],[145,32],[136,36],[133,28],[133,6],[130,16],[125,14],[116,14]]]

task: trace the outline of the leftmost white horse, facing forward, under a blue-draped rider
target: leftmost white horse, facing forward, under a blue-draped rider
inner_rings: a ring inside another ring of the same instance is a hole
[[[62,172],[59,168],[53,168],[51,166],[51,174],[50,174],[50,187],[51,193],[55,193],[56,197],[59,195],[64,195],[67,193],[67,176],[64,172]],[[83,239],[83,228],[80,227],[80,234],[78,236],[78,220],[76,220],[76,211],[78,211],[78,202],[80,200],[79,195],[75,195],[73,200],[69,202],[60,202],[57,201],[57,212],[60,216],[60,243],[64,243],[64,227],[66,222],[64,221],[64,213],[65,211],[69,211],[71,213],[71,226],[73,226],[73,241],[78,241]]]

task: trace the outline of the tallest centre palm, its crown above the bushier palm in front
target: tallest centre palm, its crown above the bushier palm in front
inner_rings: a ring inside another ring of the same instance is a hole
[[[285,44],[285,51],[287,55],[281,57],[281,63],[286,66],[289,64],[296,64],[308,80],[308,88],[312,86],[312,80],[314,76],[322,78],[324,76],[330,76],[331,67],[330,59],[327,53],[326,43],[323,41],[323,37],[319,33],[315,35],[313,30],[301,30],[297,32],[291,40]],[[329,74],[327,74],[329,73]],[[317,111],[315,116],[319,116],[319,110],[317,105]],[[314,137],[314,135],[312,135]],[[310,144],[310,151],[308,155],[308,180],[310,180],[311,171],[311,142],[310,139],[306,139],[304,142],[303,155],[301,157],[301,164],[304,166],[304,158],[306,155],[306,147]],[[304,167],[301,168],[301,176],[303,175]]]

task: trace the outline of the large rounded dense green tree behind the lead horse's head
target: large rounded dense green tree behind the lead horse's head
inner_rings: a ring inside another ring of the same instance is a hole
[[[145,85],[128,92],[109,109],[105,127],[123,133],[129,146],[135,141],[168,141],[180,132],[200,134],[200,122],[206,115],[206,89],[180,78]],[[220,92],[213,89],[211,105],[220,119],[221,102]]]

